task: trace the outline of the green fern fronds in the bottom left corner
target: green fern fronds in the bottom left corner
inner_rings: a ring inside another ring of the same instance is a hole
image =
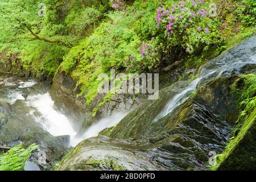
[[[31,152],[38,147],[36,144],[31,144],[26,149],[22,144],[14,146],[5,154],[0,155],[0,171],[22,171]]]

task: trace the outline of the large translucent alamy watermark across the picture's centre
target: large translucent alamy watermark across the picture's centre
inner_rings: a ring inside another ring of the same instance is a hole
[[[159,97],[159,73],[118,73],[115,69],[110,70],[110,76],[101,73],[98,76],[101,83],[98,85],[98,93],[115,94],[148,94],[149,100],[156,100]]]

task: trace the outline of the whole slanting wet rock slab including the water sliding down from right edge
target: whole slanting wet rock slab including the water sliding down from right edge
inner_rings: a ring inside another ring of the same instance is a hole
[[[224,151],[237,121],[234,83],[238,75],[255,68],[255,40],[254,36],[210,61],[201,68],[200,81],[178,81],[160,90],[158,100],[144,101],[117,126],[82,141],[56,170],[208,169],[209,152]],[[243,153],[248,160],[252,157],[249,164],[254,167],[255,145],[245,147],[255,134],[254,125],[249,128],[233,150],[238,155],[229,155],[236,163],[225,160],[219,169],[233,169]]]

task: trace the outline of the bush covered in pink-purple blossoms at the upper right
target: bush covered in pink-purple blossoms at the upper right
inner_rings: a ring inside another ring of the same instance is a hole
[[[208,15],[203,0],[170,2],[158,7],[156,28],[163,32],[170,46],[181,46],[188,53],[207,49],[219,42],[216,22]]]

